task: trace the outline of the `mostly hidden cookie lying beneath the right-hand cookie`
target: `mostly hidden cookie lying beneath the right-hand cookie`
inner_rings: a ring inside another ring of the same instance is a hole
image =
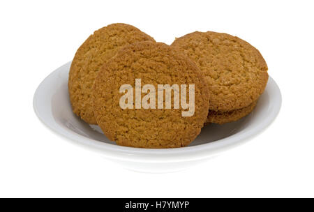
[[[243,107],[241,109],[234,109],[232,111],[228,112],[220,112],[215,110],[209,110],[208,116],[207,116],[207,123],[229,123],[232,121],[238,121],[239,119],[243,118],[244,116],[247,116],[250,114],[253,109],[256,106],[257,101],[252,103],[251,105],[248,105],[248,107]]]

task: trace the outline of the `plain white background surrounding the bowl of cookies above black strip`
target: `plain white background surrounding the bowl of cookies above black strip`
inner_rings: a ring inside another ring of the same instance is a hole
[[[0,197],[314,197],[313,1],[1,1]],[[250,142],[191,169],[131,172],[37,119],[38,84],[96,29],[133,24],[167,44],[192,31],[262,52],[283,105]]]

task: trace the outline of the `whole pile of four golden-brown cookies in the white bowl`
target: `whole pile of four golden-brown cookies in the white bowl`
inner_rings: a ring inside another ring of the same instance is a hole
[[[193,142],[204,124],[252,112],[267,79],[262,55],[240,38],[195,32],[166,45],[111,24],[77,50],[68,90],[73,112],[117,144],[174,148]],[[128,107],[121,107],[124,95]]]

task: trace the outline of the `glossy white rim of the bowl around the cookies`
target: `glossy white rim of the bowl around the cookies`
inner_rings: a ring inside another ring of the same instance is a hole
[[[243,144],[249,138],[260,134],[260,132],[265,130],[274,121],[274,119],[276,119],[276,116],[278,116],[278,113],[281,109],[281,91],[274,79],[269,76],[267,86],[270,86],[269,89],[271,90],[271,95],[273,98],[276,98],[276,102],[274,103],[274,107],[268,116],[266,116],[265,119],[263,119],[262,122],[260,122],[254,128],[246,128],[240,132],[235,133],[234,135],[230,135],[223,139],[218,139],[215,142],[173,149],[142,149],[107,144],[105,142],[100,142],[96,139],[91,139],[89,137],[77,134],[77,132],[74,132],[68,128],[63,128],[57,123],[57,121],[52,119],[52,114],[43,114],[43,110],[40,109],[40,95],[43,94],[45,86],[53,82],[53,79],[56,78],[59,73],[68,69],[70,63],[71,61],[54,70],[52,73],[50,73],[50,75],[43,79],[43,82],[39,84],[33,96],[34,112],[36,116],[38,116],[38,119],[40,119],[40,121],[55,134],[61,135],[61,137],[66,138],[66,140],[75,144],[80,144],[80,146],[84,146],[91,151],[100,153],[105,156],[105,158],[140,162],[178,162],[209,158],[218,154],[220,151],[226,151],[235,146],[238,146],[239,144]]]

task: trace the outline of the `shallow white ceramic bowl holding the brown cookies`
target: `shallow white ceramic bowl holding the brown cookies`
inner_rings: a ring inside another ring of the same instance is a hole
[[[57,134],[101,153],[128,169],[172,172],[201,162],[243,144],[274,121],[281,108],[281,92],[271,77],[254,111],[244,119],[225,125],[211,124],[190,146],[176,149],[138,149],[118,146],[98,128],[73,114],[68,97],[70,62],[54,70],[36,90],[33,107],[38,118]]]

